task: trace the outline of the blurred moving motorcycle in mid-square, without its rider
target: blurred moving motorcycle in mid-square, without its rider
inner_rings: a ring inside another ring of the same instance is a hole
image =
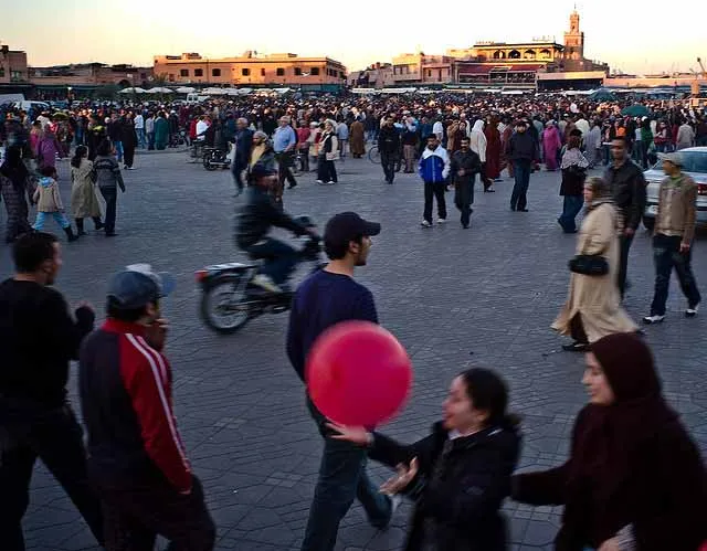
[[[308,216],[298,216],[306,227],[315,227]],[[313,263],[310,273],[326,266],[321,259],[320,237],[307,235],[299,250],[300,263]],[[263,314],[279,314],[291,308],[294,292],[287,288],[283,293],[271,293],[253,284],[263,264],[261,258],[251,257],[251,262],[231,262],[205,266],[196,273],[197,284],[201,287],[201,319],[212,330],[230,335],[242,329],[245,324]]]

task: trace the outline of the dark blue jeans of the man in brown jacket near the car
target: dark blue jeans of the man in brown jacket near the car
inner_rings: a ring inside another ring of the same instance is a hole
[[[673,268],[677,274],[680,289],[687,305],[694,308],[699,304],[701,297],[697,289],[697,283],[690,266],[692,247],[687,253],[680,253],[679,235],[663,235],[657,233],[653,236],[653,262],[655,263],[655,293],[651,305],[651,316],[664,316],[667,292],[671,285],[671,274]]]

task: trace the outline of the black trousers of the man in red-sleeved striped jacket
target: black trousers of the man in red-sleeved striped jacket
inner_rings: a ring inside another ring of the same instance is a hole
[[[152,551],[157,536],[170,541],[170,551],[213,549],[217,530],[197,477],[187,496],[165,480],[139,477],[95,487],[105,516],[106,551]]]

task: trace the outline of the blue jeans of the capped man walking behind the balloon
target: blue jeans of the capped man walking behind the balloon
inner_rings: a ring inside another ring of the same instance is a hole
[[[319,478],[314,491],[302,551],[331,551],[336,545],[339,522],[355,498],[363,506],[370,523],[384,528],[390,522],[390,498],[373,486],[366,474],[366,451],[348,442],[327,437],[327,418],[309,399],[307,406],[324,437]]]

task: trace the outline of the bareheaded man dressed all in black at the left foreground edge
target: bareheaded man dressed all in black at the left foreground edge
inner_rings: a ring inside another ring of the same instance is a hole
[[[51,285],[62,266],[50,233],[14,243],[15,275],[0,284],[0,549],[24,551],[22,517],[38,458],[44,463],[103,544],[101,504],[88,485],[81,426],[66,401],[68,362],[91,332],[87,305],[68,314]]]

